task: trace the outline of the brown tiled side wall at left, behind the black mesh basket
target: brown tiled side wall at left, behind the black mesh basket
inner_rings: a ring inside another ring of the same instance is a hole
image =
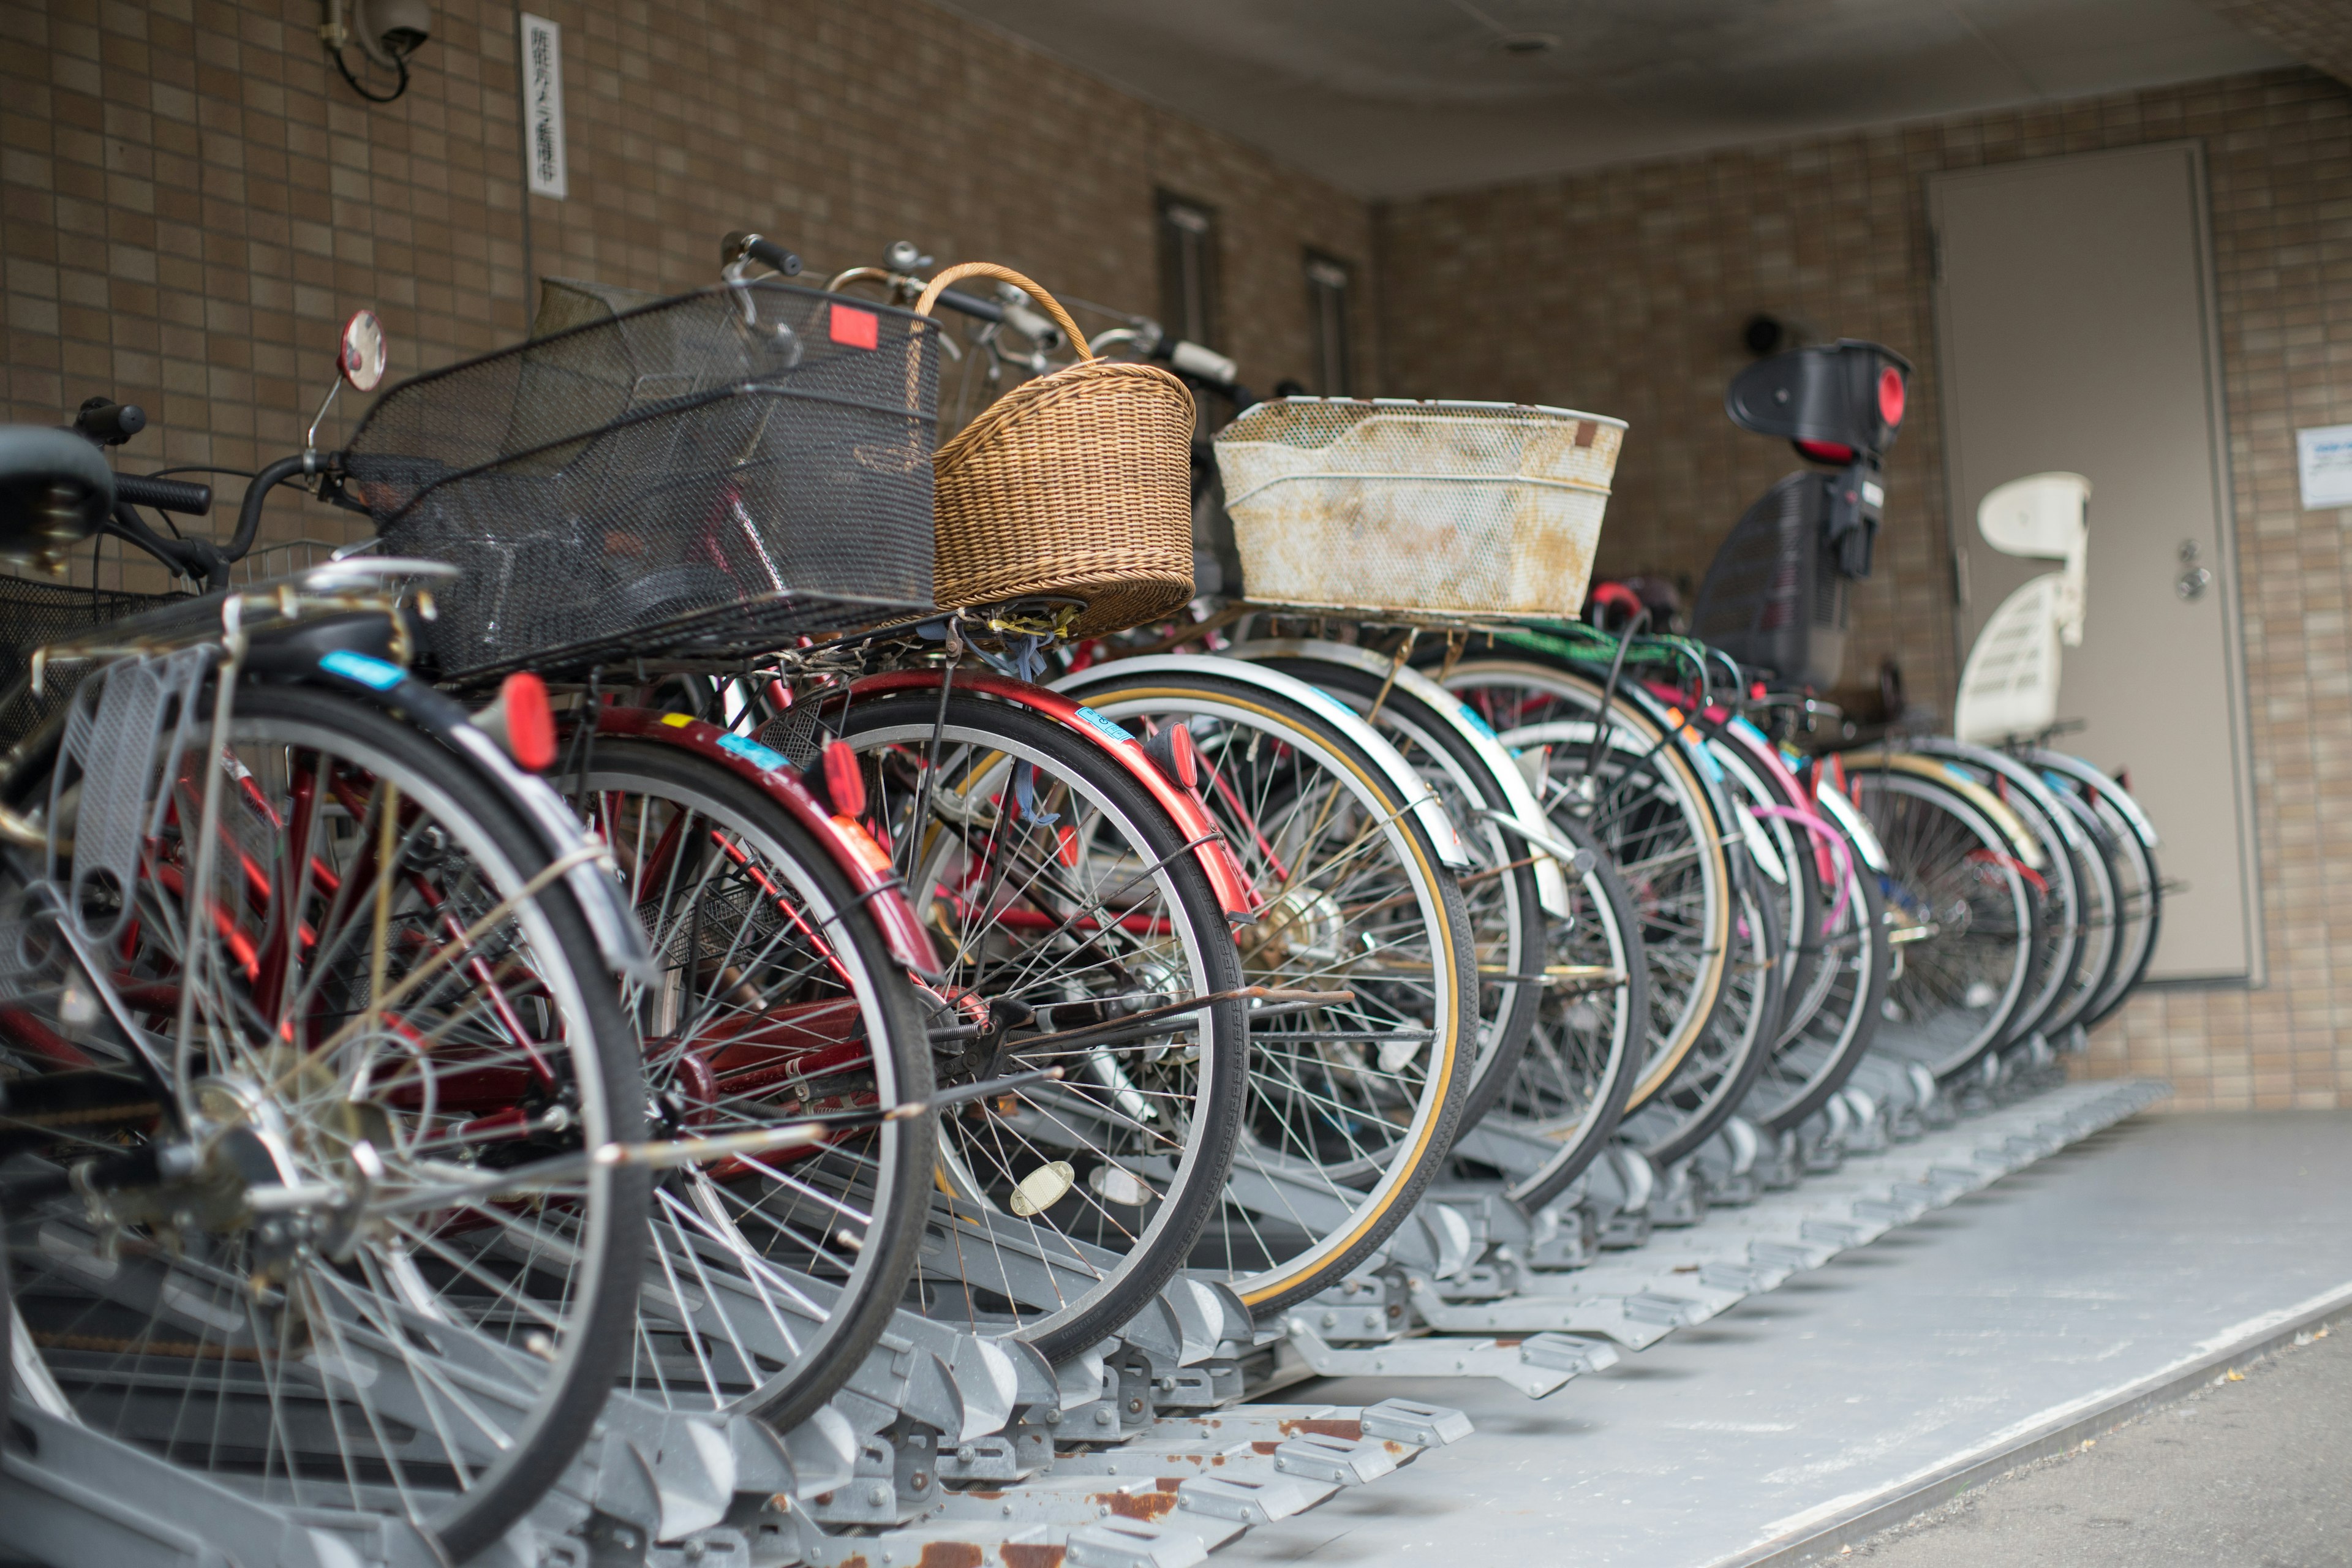
[[[155,423],[141,465],[252,465],[299,447],[355,306],[409,374],[520,339],[532,273],[687,289],[743,226],[816,273],[906,237],[1155,310],[1155,186],[1221,209],[1225,348],[1268,386],[1308,374],[1303,249],[1371,259],[1352,197],[920,0],[534,12],[572,200],[529,197],[527,256],[503,5],[437,0],[388,106],[334,75],[315,0],[0,5],[0,416],[106,390]]]

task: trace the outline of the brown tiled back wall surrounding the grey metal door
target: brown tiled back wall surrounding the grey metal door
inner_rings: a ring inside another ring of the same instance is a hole
[[[2293,444],[2352,421],[2352,89],[2284,71],[1404,202],[1381,216],[1388,383],[1630,418],[1602,569],[1696,576],[1790,465],[1724,418],[1740,322],[1900,348],[1922,374],[1846,672],[1893,654],[1950,712],[1922,176],[2180,136],[2213,186],[2270,985],[2145,992],[2089,1070],[2164,1072],[2190,1107],[2352,1105],[2352,515],[2300,510]]]

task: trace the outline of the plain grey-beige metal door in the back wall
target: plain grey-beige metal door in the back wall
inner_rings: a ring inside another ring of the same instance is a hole
[[[2056,745],[2129,771],[2164,837],[2152,978],[2260,980],[2220,353],[2194,141],[1929,176],[1959,651],[2020,583],[1992,487],[2091,480],[2084,642]]]

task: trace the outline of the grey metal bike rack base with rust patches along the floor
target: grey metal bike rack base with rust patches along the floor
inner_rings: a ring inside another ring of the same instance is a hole
[[[2169,1093],[2091,1081],[1957,1114],[1907,1065],[1863,1067],[1795,1178],[1788,1166],[1802,1161],[1773,1171],[1752,1133],[1731,1133],[1679,1171],[1611,1150],[1536,1213],[1508,1204],[1501,1182],[1446,1182],[1369,1267],[1268,1324],[1223,1284],[1178,1276],[1117,1338],[1054,1368],[985,1326],[901,1312],[833,1403],[788,1434],[616,1394],[548,1497],[475,1561],[1188,1568],[1254,1523],[1374,1486],[1470,1432],[1461,1413],[1406,1399],[1263,1403],[1287,1385],[1496,1378],[1545,1396]],[[1463,1150],[1510,1168],[1512,1140],[1529,1135],[1491,1121]],[[1677,1190],[1691,1194],[1686,1218],[1661,1215]],[[934,1215],[931,1246],[969,1222]],[[1014,1269],[1014,1298],[1049,1298],[1056,1269],[1084,1262],[1033,1258]],[[437,1561],[390,1512],[268,1502],[21,1396],[12,1422],[0,1514],[12,1547],[49,1561]]]

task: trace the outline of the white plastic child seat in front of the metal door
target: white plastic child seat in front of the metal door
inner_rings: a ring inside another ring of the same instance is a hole
[[[2082,646],[2091,482],[2079,473],[2011,480],[1978,503],[1976,531],[2002,555],[2063,562],[2002,599],[1959,672],[1952,731],[1990,745],[2058,722],[2058,649]]]

